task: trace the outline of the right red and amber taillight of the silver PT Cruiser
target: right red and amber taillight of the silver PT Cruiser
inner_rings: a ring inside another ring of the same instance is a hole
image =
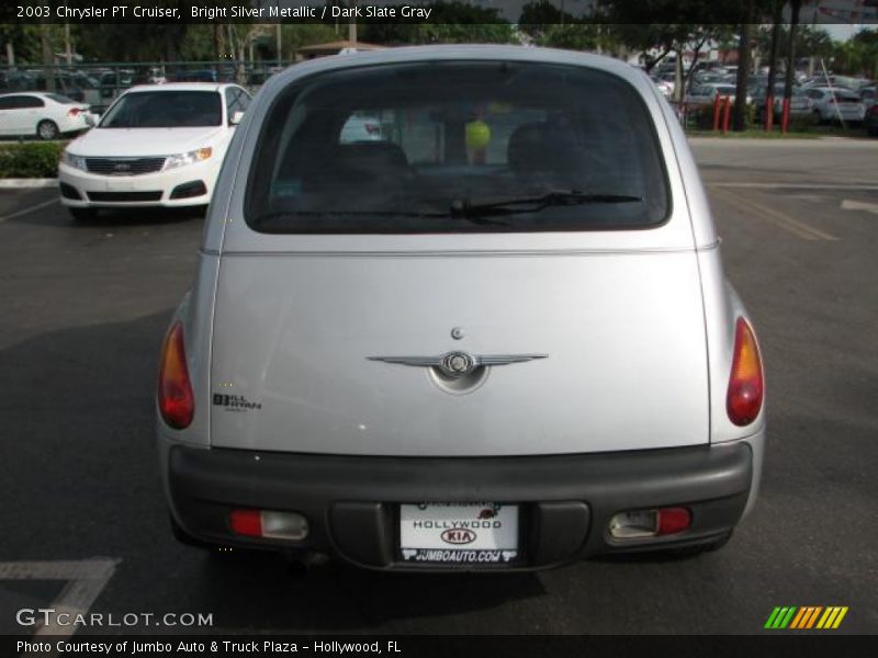
[[[762,360],[753,329],[744,318],[734,328],[734,354],[725,409],[736,426],[750,424],[759,415],[764,394]]]

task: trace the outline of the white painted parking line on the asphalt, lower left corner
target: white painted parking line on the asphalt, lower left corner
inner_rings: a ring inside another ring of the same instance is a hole
[[[95,557],[76,561],[0,563],[0,580],[66,580],[67,585],[48,605],[55,611],[49,617],[52,621],[37,626],[34,636],[68,637],[76,633],[77,626],[58,624],[58,616],[67,613],[69,617],[61,619],[72,620],[76,615],[87,614],[120,561]]]

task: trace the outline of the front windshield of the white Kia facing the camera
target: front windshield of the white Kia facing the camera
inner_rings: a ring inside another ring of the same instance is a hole
[[[223,122],[216,91],[132,91],[101,121],[101,128],[193,128]]]

